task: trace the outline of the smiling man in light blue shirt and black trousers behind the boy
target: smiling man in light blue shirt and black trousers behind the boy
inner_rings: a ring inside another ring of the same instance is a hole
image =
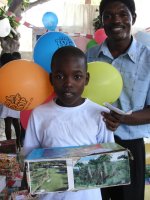
[[[123,78],[123,90],[115,106],[133,110],[122,116],[103,113],[109,129],[115,131],[115,141],[128,148],[131,184],[103,189],[103,200],[144,200],[145,147],[143,137],[150,137],[150,50],[131,35],[135,23],[134,0],[102,0],[100,16],[107,39],[88,50],[88,62],[103,61],[115,66]]]

